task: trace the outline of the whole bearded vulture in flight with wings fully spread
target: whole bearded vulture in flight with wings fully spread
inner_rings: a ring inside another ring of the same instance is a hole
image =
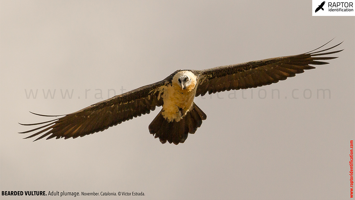
[[[159,138],[162,144],[168,141],[170,144],[178,145],[186,140],[189,133],[194,134],[201,126],[202,120],[207,118],[201,108],[193,102],[195,97],[203,96],[207,92],[211,94],[277,83],[287,77],[303,73],[304,70],[314,69],[315,67],[311,65],[328,64],[319,60],[338,58],[322,55],[341,52],[342,50],[328,51],[340,44],[316,51],[324,46],[322,45],[315,50],[299,55],[250,61],[205,70],[176,70],[162,81],[114,96],[74,113],[66,115],[36,114],[45,117],[62,117],[42,123],[21,124],[26,126],[40,125],[38,128],[21,133],[35,131],[26,138],[43,134],[34,141],[48,135],[47,140],[53,137],[56,139],[83,137],[104,131],[110,126],[121,124],[133,117],[150,113],[151,110],[155,110],[155,107],[162,106],[157,117],[149,124],[149,132],[155,138]]]

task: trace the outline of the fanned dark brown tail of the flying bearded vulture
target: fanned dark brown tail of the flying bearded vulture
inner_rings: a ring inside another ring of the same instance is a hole
[[[163,117],[162,110],[160,110],[148,128],[155,138],[159,137],[162,144],[168,141],[170,144],[178,145],[185,142],[189,133],[194,134],[197,128],[201,126],[202,120],[206,118],[207,115],[193,103],[191,110],[180,121],[168,122]]]

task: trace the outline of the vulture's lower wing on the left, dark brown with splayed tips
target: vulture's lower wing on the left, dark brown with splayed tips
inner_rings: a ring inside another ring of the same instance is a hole
[[[108,129],[110,126],[122,123],[122,121],[127,121],[133,119],[133,117],[150,113],[151,110],[155,110],[156,106],[162,106],[163,98],[161,98],[161,95],[165,85],[169,83],[168,80],[170,76],[163,81],[114,96],[105,101],[98,102],[87,108],[81,109],[75,113],[67,115],[36,114],[45,117],[64,117],[42,123],[21,124],[26,126],[41,125],[38,128],[21,133],[35,132],[26,138],[43,134],[34,140],[36,141],[50,134],[51,135],[47,137],[47,139],[51,139],[53,137],[56,137],[56,139],[61,137],[68,139],[70,137],[82,137],[103,131]]]

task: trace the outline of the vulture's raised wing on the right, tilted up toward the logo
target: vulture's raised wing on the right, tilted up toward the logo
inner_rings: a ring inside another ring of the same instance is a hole
[[[196,97],[199,95],[203,96],[207,92],[208,94],[211,94],[229,90],[255,88],[263,85],[270,85],[271,83],[277,83],[280,80],[287,79],[287,77],[303,73],[304,70],[316,68],[311,65],[328,64],[327,62],[319,60],[338,58],[315,56],[341,52],[343,49],[326,52],[329,49],[337,47],[341,43],[327,49],[316,51],[326,45],[324,44],[315,50],[299,55],[269,58],[201,70],[199,72],[200,79],[198,81]]]

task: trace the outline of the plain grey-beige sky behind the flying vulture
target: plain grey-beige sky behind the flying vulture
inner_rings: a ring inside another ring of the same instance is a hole
[[[312,1],[2,0],[0,190],[145,194],[75,199],[350,199],[355,18],[312,17],[311,9]],[[337,50],[345,50],[328,65],[244,96],[195,98],[207,120],[184,144],[149,134],[160,107],[77,139],[17,134],[28,130],[18,122],[51,119],[28,111],[67,114],[112,97],[108,89],[117,95],[177,69],[305,53],[334,37],[327,47],[344,40]],[[36,98],[27,98],[31,89]],[[317,98],[319,89],[330,98]],[[54,98],[43,90],[56,90]],[[61,90],[73,90],[71,98]]]

